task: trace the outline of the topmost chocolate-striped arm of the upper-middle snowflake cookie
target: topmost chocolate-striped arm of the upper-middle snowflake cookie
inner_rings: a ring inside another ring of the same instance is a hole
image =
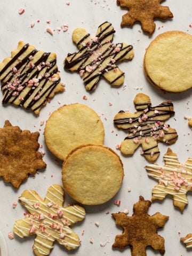
[[[98,27],[96,37],[98,37],[100,44],[110,43],[113,42],[114,33],[115,30],[111,23],[104,22]]]

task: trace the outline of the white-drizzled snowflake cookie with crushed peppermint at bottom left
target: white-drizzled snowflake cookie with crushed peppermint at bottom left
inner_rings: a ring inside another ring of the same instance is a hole
[[[36,256],[49,255],[54,241],[68,250],[80,245],[79,237],[70,226],[85,218],[85,210],[79,205],[63,207],[64,191],[52,185],[43,200],[34,190],[25,190],[19,197],[29,213],[14,223],[14,234],[19,237],[36,235],[33,250]]]

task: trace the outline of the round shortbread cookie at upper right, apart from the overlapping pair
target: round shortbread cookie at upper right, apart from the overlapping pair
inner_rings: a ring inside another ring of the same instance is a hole
[[[144,68],[149,82],[166,92],[192,87],[192,36],[182,31],[158,35],[146,50]]]

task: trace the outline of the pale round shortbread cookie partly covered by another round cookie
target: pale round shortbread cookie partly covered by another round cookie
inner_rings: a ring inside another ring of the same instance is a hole
[[[103,144],[104,136],[104,127],[98,114],[82,104],[62,106],[46,121],[46,145],[61,160],[81,145]]]

